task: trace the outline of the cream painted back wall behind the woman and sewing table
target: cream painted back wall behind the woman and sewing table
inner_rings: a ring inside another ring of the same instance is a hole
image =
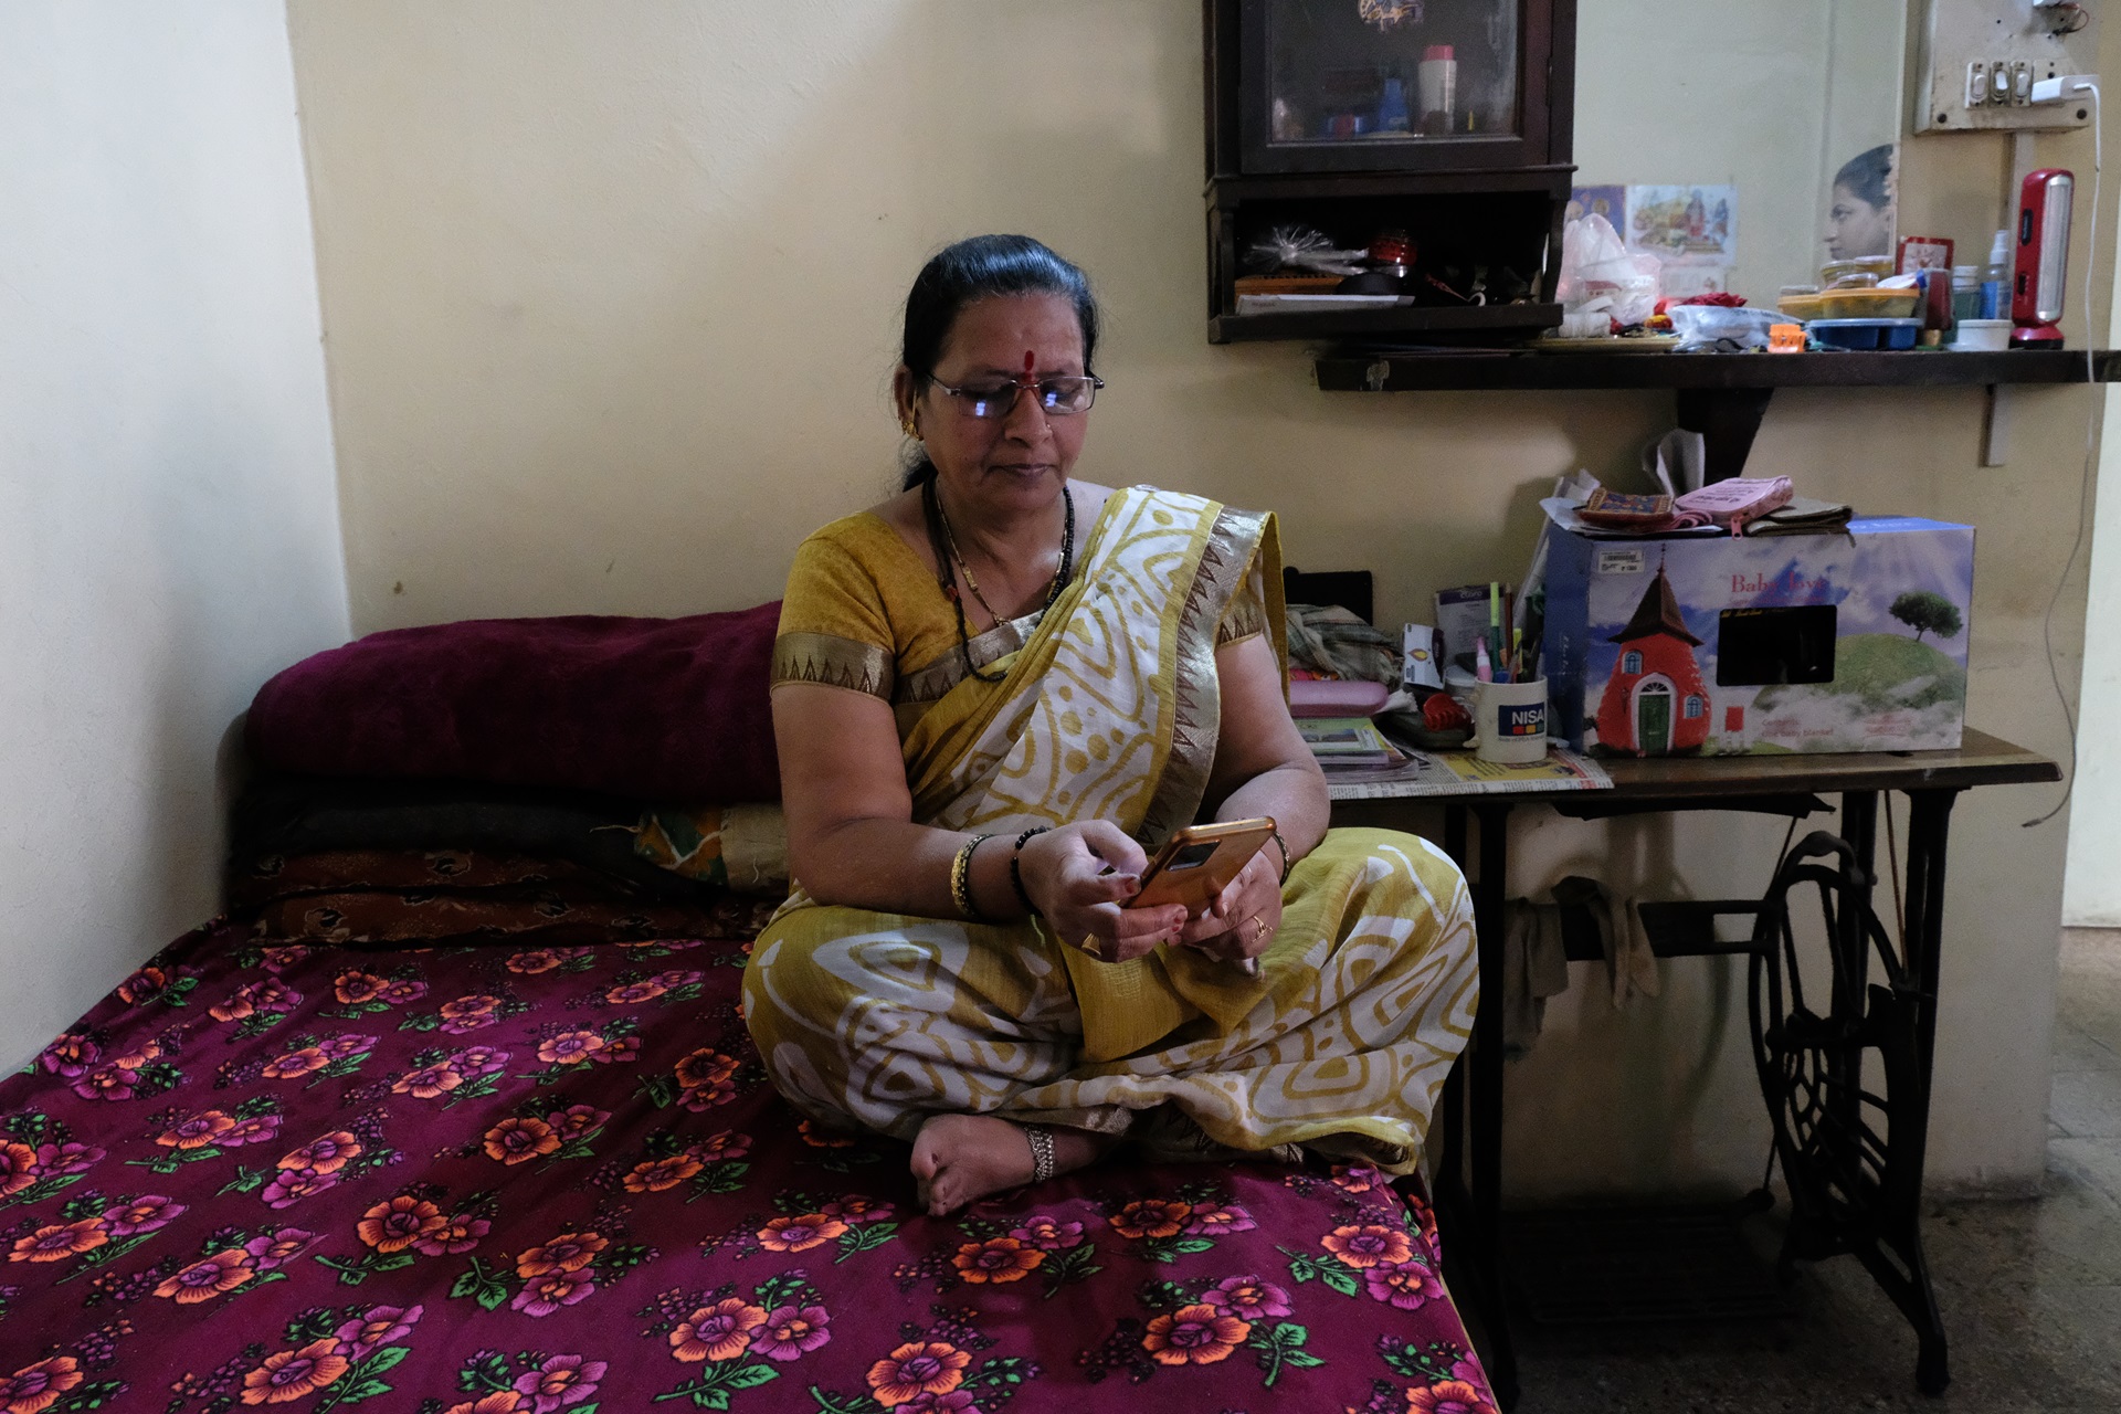
[[[804,532],[891,485],[897,305],[978,231],[1037,233],[1101,286],[1111,388],[1082,475],[1277,507],[1292,562],[1377,570],[1385,621],[1514,575],[1557,471],[1627,481],[1671,420],[1650,392],[1328,396],[1298,346],[1207,346],[1196,0],[293,0],[291,19],[361,630],[772,598]],[[1992,138],[1911,142],[1903,199],[1985,240],[2002,163]],[[1748,231],[1767,216],[1748,206]],[[1756,452],[1811,494],[1979,522],[1973,719],[2043,750],[2064,729],[2038,613],[2087,396],[2028,392],[2000,471],[1977,466],[1977,390],[1777,394]],[[2079,583],[2066,681],[2081,602]],[[1956,823],[1945,1185],[2040,1172],[2064,827],[2017,823],[2053,795],[1998,789]],[[1578,861],[1756,892],[1777,837],[1527,810],[1517,886]],[[1758,1177],[1729,977],[1667,971],[1667,998],[1620,1018],[1578,992],[1512,1073],[1519,1196]]]

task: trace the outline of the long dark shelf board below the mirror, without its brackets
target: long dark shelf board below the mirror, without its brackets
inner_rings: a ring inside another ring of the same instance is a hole
[[[2121,377],[2121,352],[2091,354],[2096,382]],[[2083,350],[2004,354],[1362,354],[1317,360],[1326,392],[1485,388],[1926,388],[1943,384],[2083,384]]]

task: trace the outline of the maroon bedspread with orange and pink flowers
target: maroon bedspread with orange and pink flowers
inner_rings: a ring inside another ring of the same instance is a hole
[[[929,1219],[766,1083],[742,960],[178,939],[0,1083],[0,1414],[1493,1414],[1379,1174]]]

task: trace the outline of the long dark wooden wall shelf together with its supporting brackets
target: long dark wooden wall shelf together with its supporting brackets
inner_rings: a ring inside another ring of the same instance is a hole
[[[1701,432],[1707,479],[1746,473],[1746,456],[1775,388],[1941,388],[2121,382],[2121,352],[2009,350],[2002,354],[1538,354],[1483,350],[1389,354],[1336,350],[1317,360],[1326,392],[1483,392],[1565,388],[1671,388],[1678,424]],[[1989,416],[1983,464],[2002,462],[2000,418]]]

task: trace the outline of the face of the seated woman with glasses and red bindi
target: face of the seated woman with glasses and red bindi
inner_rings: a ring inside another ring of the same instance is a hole
[[[1027,363],[1029,360],[1029,363]],[[1020,392],[1001,418],[974,418],[952,388],[993,386],[1014,377],[1082,377],[1082,322],[1060,295],[995,295],[965,305],[933,382],[914,396],[914,377],[893,379],[899,413],[910,413],[927,443],[946,496],[991,511],[1052,505],[1082,454],[1088,413],[1052,416]]]

